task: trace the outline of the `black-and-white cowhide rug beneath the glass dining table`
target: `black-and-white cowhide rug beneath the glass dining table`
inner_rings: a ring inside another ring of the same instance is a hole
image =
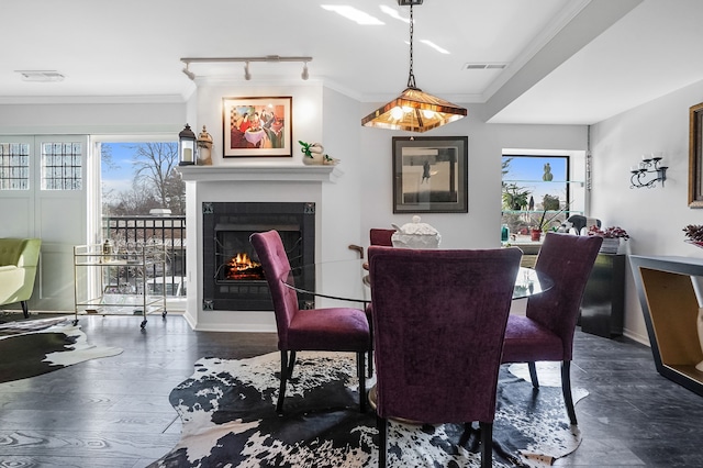
[[[200,359],[170,394],[183,423],[181,441],[149,467],[377,466],[376,416],[358,412],[355,366],[352,354],[300,353],[279,416],[278,353]],[[574,401],[585,394],[576,390]],[[462,425],[390,422],[389,467],[479,467],[478,426],[460,444],[462,435]],[[549,466],[581,441],[559,388],[533,391],[505,366],[493,437],[494,467]]]

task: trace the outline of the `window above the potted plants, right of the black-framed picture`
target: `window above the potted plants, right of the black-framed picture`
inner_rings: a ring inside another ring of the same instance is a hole
[[[569,155],[504,154],[502,171],[501,241],[538,242],[542,233],[583,213],[583,182],[571,177]]]

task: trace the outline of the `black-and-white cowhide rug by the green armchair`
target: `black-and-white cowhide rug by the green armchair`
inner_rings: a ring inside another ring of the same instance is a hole
[[[37,319],[0,324],[0,383],[26,379],[121,348],[90,345],[72,317]]]

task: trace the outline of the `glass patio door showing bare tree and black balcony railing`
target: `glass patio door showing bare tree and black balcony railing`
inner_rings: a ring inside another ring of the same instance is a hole
[[[172,135],[170,136],[172,138]],[[178,142],[155,135],[96,136],[100,155],[100,238],[118,252],[164,245],[165,270],[145,272],[149,294],[165,293],[168,310],[186,298],[186,185],[175,171]],[[136,278],[126,283],[136,289]]]

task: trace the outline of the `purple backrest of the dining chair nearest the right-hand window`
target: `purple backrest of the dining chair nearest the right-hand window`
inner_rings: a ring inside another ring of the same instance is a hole
[[[527,300],[526,315],[561,338],[563,360],[571,360],[573,332],[581,298],[603,238],[547,233],[535,269],[554,280],[554,287]]]

